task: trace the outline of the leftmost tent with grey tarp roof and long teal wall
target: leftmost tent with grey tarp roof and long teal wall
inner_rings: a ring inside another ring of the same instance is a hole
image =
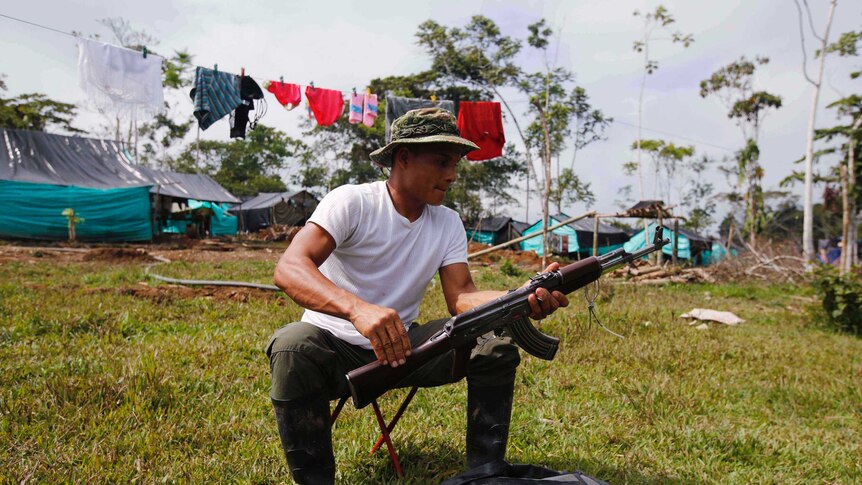
[[[78,240],[149,240],[152,186],[122,143],[0,129],[0,237],[67,239],[72,209]]]

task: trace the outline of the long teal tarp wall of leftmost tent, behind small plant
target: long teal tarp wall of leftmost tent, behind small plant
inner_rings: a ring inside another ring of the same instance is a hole
[[[93,189],[0,180],[0,236],[69,238],[67,208],[84,219],[79,241],[146,241],[152,238],[150,187]]]

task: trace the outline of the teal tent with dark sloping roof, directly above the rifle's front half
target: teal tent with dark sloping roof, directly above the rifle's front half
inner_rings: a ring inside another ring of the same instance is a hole
[[[548,226],[555,226],[567,219],[570,216],[560,213],[550,216]],[[621,248],[623,243],[628,239],[628,235],[622,229],[599,222],[598,228],[598,253],[605,254],[614,249]],[[548,239],[548,246],[551,252],[555,254],[573,255],[580,253],[582,255],[591,255],[593,252],[593,233],[595,232],[594,219],[580,219],[565,226],[558,227],[551,231],[551,236]],[[523,235],[538,234],[536,237],[527,239],[521,242],[521,249],[526,251],[534,251],[538,255],[542,255],[542,221],[541,219],[524,231]]]

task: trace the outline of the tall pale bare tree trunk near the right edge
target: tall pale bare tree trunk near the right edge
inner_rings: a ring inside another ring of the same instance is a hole
[[[814,260],[814,125],[817,116],[817,102],[820,98],[820,85],[823,81],[823,66],[826,62],[826,46],[829,41],[829,29],[832,27],[832,16],[838,0],[829,4],[829,16],[826,20],[826,32],[820,42],[820,67],[817,70],[817,81],[812,82],[814,92],[811,94],[811,112],[808,114],[808,136],[805,146],[805,201],[802,216],[802,253],[806,267]],[[803,55],[804,52],[803,52]],[[807,77],[807,74],[806,74]]]

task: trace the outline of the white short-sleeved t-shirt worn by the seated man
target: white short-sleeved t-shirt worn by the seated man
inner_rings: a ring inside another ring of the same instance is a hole
[[[336,188],[309,222],[335,239],[320,272],[369,303],[395,309],[405,325],[419,316],[419,303],[437,270],[467,262],[467,235],[455,211],[426,205],[410,222],[395,210],[386,182]],[[302,321],[371,348],[348,320],[306,310]]]

